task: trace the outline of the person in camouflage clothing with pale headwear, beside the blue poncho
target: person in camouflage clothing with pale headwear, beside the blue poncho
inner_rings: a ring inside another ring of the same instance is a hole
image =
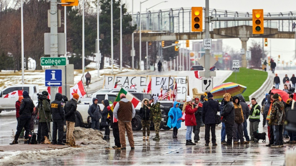
[[[150,121],[154,123],[155,130],[155,138],[153,140],[159,140],[159,127],[161,121],[161,110],[160,110],[160,102],[158,101],[157,96],[153,96],[153,105],[152,107],[148,107],[150,112]]]

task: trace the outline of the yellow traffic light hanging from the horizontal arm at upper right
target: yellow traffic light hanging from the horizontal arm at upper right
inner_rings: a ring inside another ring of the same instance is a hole
[[[253,34],[264,34],[263,9],[253,9]]]

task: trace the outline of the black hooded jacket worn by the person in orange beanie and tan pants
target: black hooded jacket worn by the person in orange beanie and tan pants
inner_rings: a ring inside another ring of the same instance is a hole
[[[77,100],[72,97],[72,99],[69,100],[64,107],[66,121],[71,121],[71,122],[76,121],[76,109],[77,109]]]

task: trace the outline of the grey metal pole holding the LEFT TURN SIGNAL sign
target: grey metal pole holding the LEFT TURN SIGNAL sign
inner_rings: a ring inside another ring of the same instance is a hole
[[[210,38],[210,17],[209,17],[209,0],[206,0],[206,7],[204,9],[204,13],[205,13],[205,38]],[[205,50],[205,62],[204,62],[204,74],[205,77],[210,77],[210,50]]]

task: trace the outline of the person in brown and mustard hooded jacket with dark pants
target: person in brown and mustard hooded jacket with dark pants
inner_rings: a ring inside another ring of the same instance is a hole
[[[247,142],[244,140],[244,115],[242,112],[240,99],[237,96],[234,96],[232,102],[234,105],[234,124],[232,129],[233,144],[247,144]],[[240,142],[238,142],[236,132],[238,132]]]

